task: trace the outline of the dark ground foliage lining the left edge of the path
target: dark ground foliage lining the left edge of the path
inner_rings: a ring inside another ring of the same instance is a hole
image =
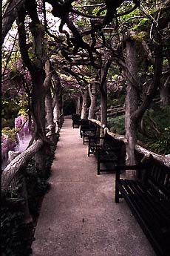
[[[2,256],[30,255],[31,244],[34,239],[35,225],[41,209],[41,202],[44,194],[50,188],[47,178],[50,176],[50,168],[54,153],[55,146],[50,146],[50,151],[47,154],[45,178],[39,177],[38,169],[35,168],[34,157],[27,163],[25,168],[28,205],[30,214],[33,217],[33,223],[24,223],[24,200],[22,198],[16,198],[15,201],[8,198],[7,202],[5,201],[1,207]],[[10,191],[8,196],[11,196],[14,193],[16,194],[16,191]]]

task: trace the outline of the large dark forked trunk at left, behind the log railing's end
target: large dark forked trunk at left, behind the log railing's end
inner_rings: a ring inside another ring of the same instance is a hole
[[[26,13],[30,16],[30,32],[33,36],[33,53],[34,61],[30,59],[27,48],[27,35],[25,29]],[[21,58],[30,71],[33,90],[32,96],[32,114],[35,123],[35,139],[41,138],[47,140],[45,136],[45,90],[44,90],[44,62],[43,62],[43,29],[38,19],[37,4],[34,0],[26,1],[25,6],[18,12],[18,42],[21,50]],[[43,175],[45,170],[45,148],[35,155],[35,163]]]

